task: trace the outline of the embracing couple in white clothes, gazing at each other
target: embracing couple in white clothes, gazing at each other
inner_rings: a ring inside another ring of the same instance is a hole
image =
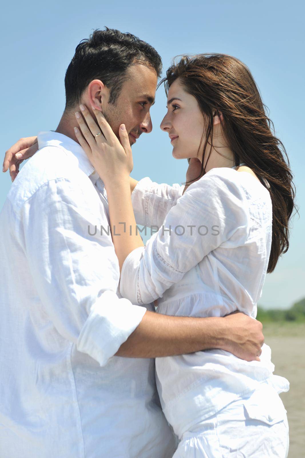
[[[161,129],[186,184],[134,180],[160,76],[152,46],[96,30],[56,131],[5,155],[0,456],[287,457],[289,382],[254,319],[289,246],[284,146],[245,64],[183,56]]]

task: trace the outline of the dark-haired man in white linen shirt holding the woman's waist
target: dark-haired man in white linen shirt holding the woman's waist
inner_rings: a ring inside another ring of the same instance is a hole
[[[242,314],[162,316],[152,304],[121,298],[111,235],[88,233],[107,228],[107,200],[75,142],[74,113],[96,105],[116,134],[124,123],[134,143],[152,130],[160,73],[149,44],[95,31],[67,69],[57,130],[38,135],[39,151],[11,186],[0,214],[1,457],[171,457],[175,439],[152,358],[208,348],[244,359],[261,352],[261,324]]]

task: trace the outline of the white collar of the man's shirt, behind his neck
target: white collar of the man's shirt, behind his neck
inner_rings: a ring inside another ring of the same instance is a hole
[[[62,148],[69,153],[72,153],[78,161],[79,168],[87,176],[93,174],[92,177],[94,178],[95,182],[98,180],[99,175],[89,161],[85,151],[80,146],[80,144],[72,140],[72,138],[67,137],[64,134],[60,134],[59,132],[47,131],[39,132],[37,135],[37,140],[39,149],[46,146],[55,146]]]

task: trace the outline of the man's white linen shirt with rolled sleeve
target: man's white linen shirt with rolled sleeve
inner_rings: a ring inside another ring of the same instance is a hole
[[[38,145],[0,213],[0,457],[171,457],[154,360],[113,356],[153,305],[118,292],[103,182],[67,136]]]

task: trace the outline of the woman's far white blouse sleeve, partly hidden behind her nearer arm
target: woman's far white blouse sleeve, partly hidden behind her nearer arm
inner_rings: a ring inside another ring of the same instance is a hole
[[[131,194],[137,224],[156,226],[159,229],[167,213],[182,196],[183,189],[184,187],[178,184],[159,185],[149,177],[140,180]]]

